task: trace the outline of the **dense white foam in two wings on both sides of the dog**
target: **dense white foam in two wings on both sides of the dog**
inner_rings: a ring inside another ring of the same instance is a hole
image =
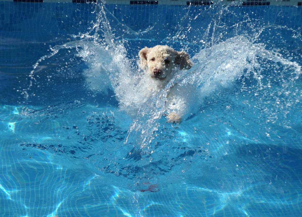
[[[296,74],[301,71],[297,63],[266,50],[263,44],[252,43],[246,36],[237,36],[201,50],[192,57],[194,66],[190,70],[176,73],[172,81],[159,91],[158,88],[150,88],[160,83],[156,83],[143,70],[130,67],[122,45],[115,45],[115,49],[98,48],[93,60],[87,60],[91,65],[85,75],[91,89],[96,91],[104,91],[111,83],[120,108],[133,117],[145,103],[149,106],[160,103],[166,104],[170,110],[177,109],[187,118],[197,112],[204,97],[217,89],[232,88],[234,81],[243,73],[252,74],[260,82],[262,76],[259,73],[263,69],[259,57],[288,65]],[[151,97],[155,98],[146,102]],[[166,112],[166,108],[157,108],[160,111],[153,109],[153,112]],[[148,111],[141,108],[140,112]]]

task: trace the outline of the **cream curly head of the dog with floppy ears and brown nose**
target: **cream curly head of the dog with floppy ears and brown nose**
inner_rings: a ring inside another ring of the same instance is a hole
[[[173,50],[166,45],[145,47],[138,53],[142,68],[148,67],[152,78],[165,79],[178,66],[180,69],[191,68],[192,64],[188,53]]]

